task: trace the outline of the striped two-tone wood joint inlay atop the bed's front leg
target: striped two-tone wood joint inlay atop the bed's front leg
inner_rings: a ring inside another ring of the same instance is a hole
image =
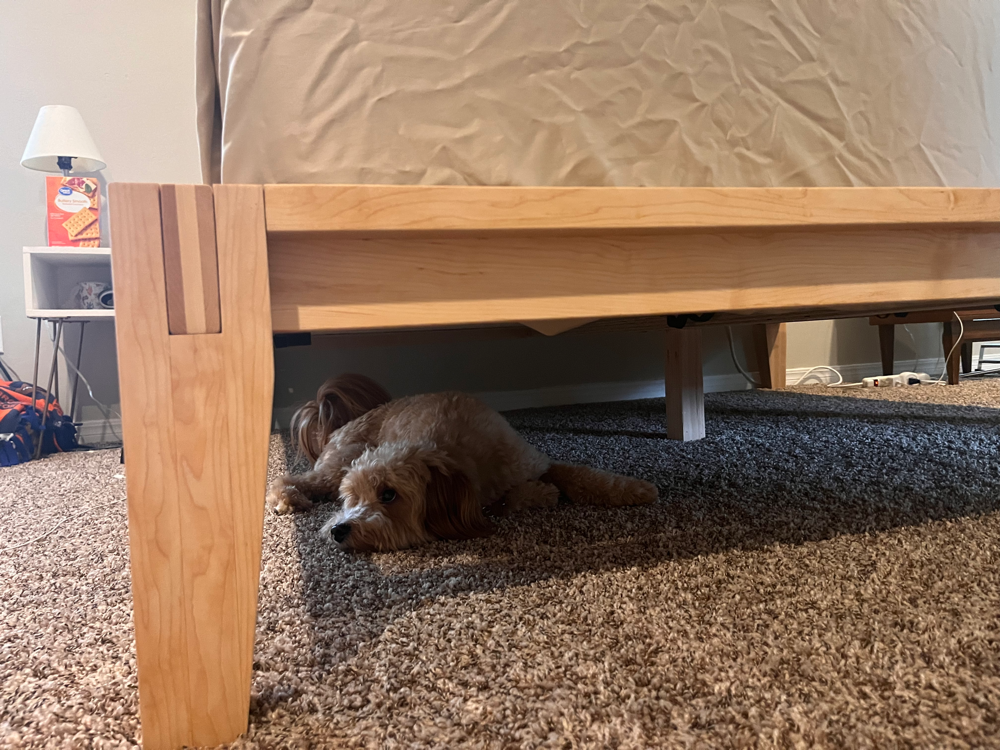
[[[218,333],[212,189],[208,185],[161,185],[160,204],[170,332]]]

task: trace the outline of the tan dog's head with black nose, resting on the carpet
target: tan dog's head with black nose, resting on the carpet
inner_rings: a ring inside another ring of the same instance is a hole
[[[351,464],[340,512],[320,533],[342,549],[384,552],[490,533],[469,477],[433,445],[385,443]]]

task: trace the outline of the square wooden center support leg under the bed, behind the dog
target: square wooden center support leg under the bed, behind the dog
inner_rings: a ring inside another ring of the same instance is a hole
[[[705,386],[701,369],[701,329],[668,328],[666,356],[667,437],[705,437]]]

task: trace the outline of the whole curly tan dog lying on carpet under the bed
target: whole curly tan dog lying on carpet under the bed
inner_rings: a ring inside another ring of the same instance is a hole
[[[387,551],[434,539],[484,536],[484,514],[555,505],[640,505],[657,491],[641,479],[553,463],[500,414],[462,393],[395,401],[362,375],[328,380],[292,419],[312,471],[275,480],[279,513],[340,497],[321,533],[343,549]]]

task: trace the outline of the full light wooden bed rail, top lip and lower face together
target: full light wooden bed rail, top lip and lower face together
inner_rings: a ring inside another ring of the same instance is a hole
[[[1000,190],[267,185],[264,203],[280,332],[794,317],[1000,290]]]

